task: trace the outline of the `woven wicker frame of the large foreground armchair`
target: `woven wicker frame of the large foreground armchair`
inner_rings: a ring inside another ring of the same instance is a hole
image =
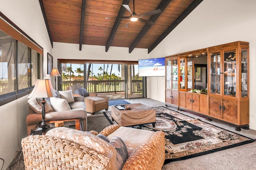
[[[120,125],[110,125],[100,134],[114,134]],[[128,131],[129,127],[125,131]],[[141,133],[145,130],[137,129]],[[91,131],[97,135],[96,131]],[[157,131],[147,142],[136,147],[126,160],[122,170],[161,170],[164,164],[164,132]],[[116,134],[114,134],[116,135]],[[134,136],[133,136],[134,137]],[[112,170],[110,159],[94,150],[78,143],[48,137],[46,135],[30,135],[22,139],[22,151],[26,170],[72,169],[72,170]]]

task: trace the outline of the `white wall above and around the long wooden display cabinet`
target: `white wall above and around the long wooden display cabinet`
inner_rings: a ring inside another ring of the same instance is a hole
[[[234,41],[250,43],[250,129],[256,130],[256,1],[255,0],[204,0],[190,13],[150,54],[149,57],[164,57],[186,51],[212,47]],[[147,84],[155,84],[148,78]],[[164,94],[162,87],[151,88],[148,97],[154,97],[155,89]],[[149,88],[148,88],[149,89]],[[161,98],[164,102],[164,98]]]

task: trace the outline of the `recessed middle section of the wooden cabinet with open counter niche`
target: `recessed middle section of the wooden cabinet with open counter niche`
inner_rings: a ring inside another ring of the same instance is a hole
[[[207,93],[190,92],[192,89],[202,90],[207,87],[207,49],[181,53],[179,59],[180,80],[183,80],[183,86],[179,89],[179,109],[207,115]]]

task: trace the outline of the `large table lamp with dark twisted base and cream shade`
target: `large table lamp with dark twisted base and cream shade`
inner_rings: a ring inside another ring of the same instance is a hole
[[[42,123],[39,125],[42,129],[50,127],[45,121],[45,103],[44,98],[50,98],[57,96],[54,89],[52,88],[52,83],[50,80],[38,79],[36,84],[28,98],[43,98],[42,100]]]

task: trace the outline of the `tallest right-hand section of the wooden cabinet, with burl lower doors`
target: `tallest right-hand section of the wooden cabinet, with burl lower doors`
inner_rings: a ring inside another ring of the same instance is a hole
[[[208,51],[209,119],[249,129],[249,43],[237,41]]]

